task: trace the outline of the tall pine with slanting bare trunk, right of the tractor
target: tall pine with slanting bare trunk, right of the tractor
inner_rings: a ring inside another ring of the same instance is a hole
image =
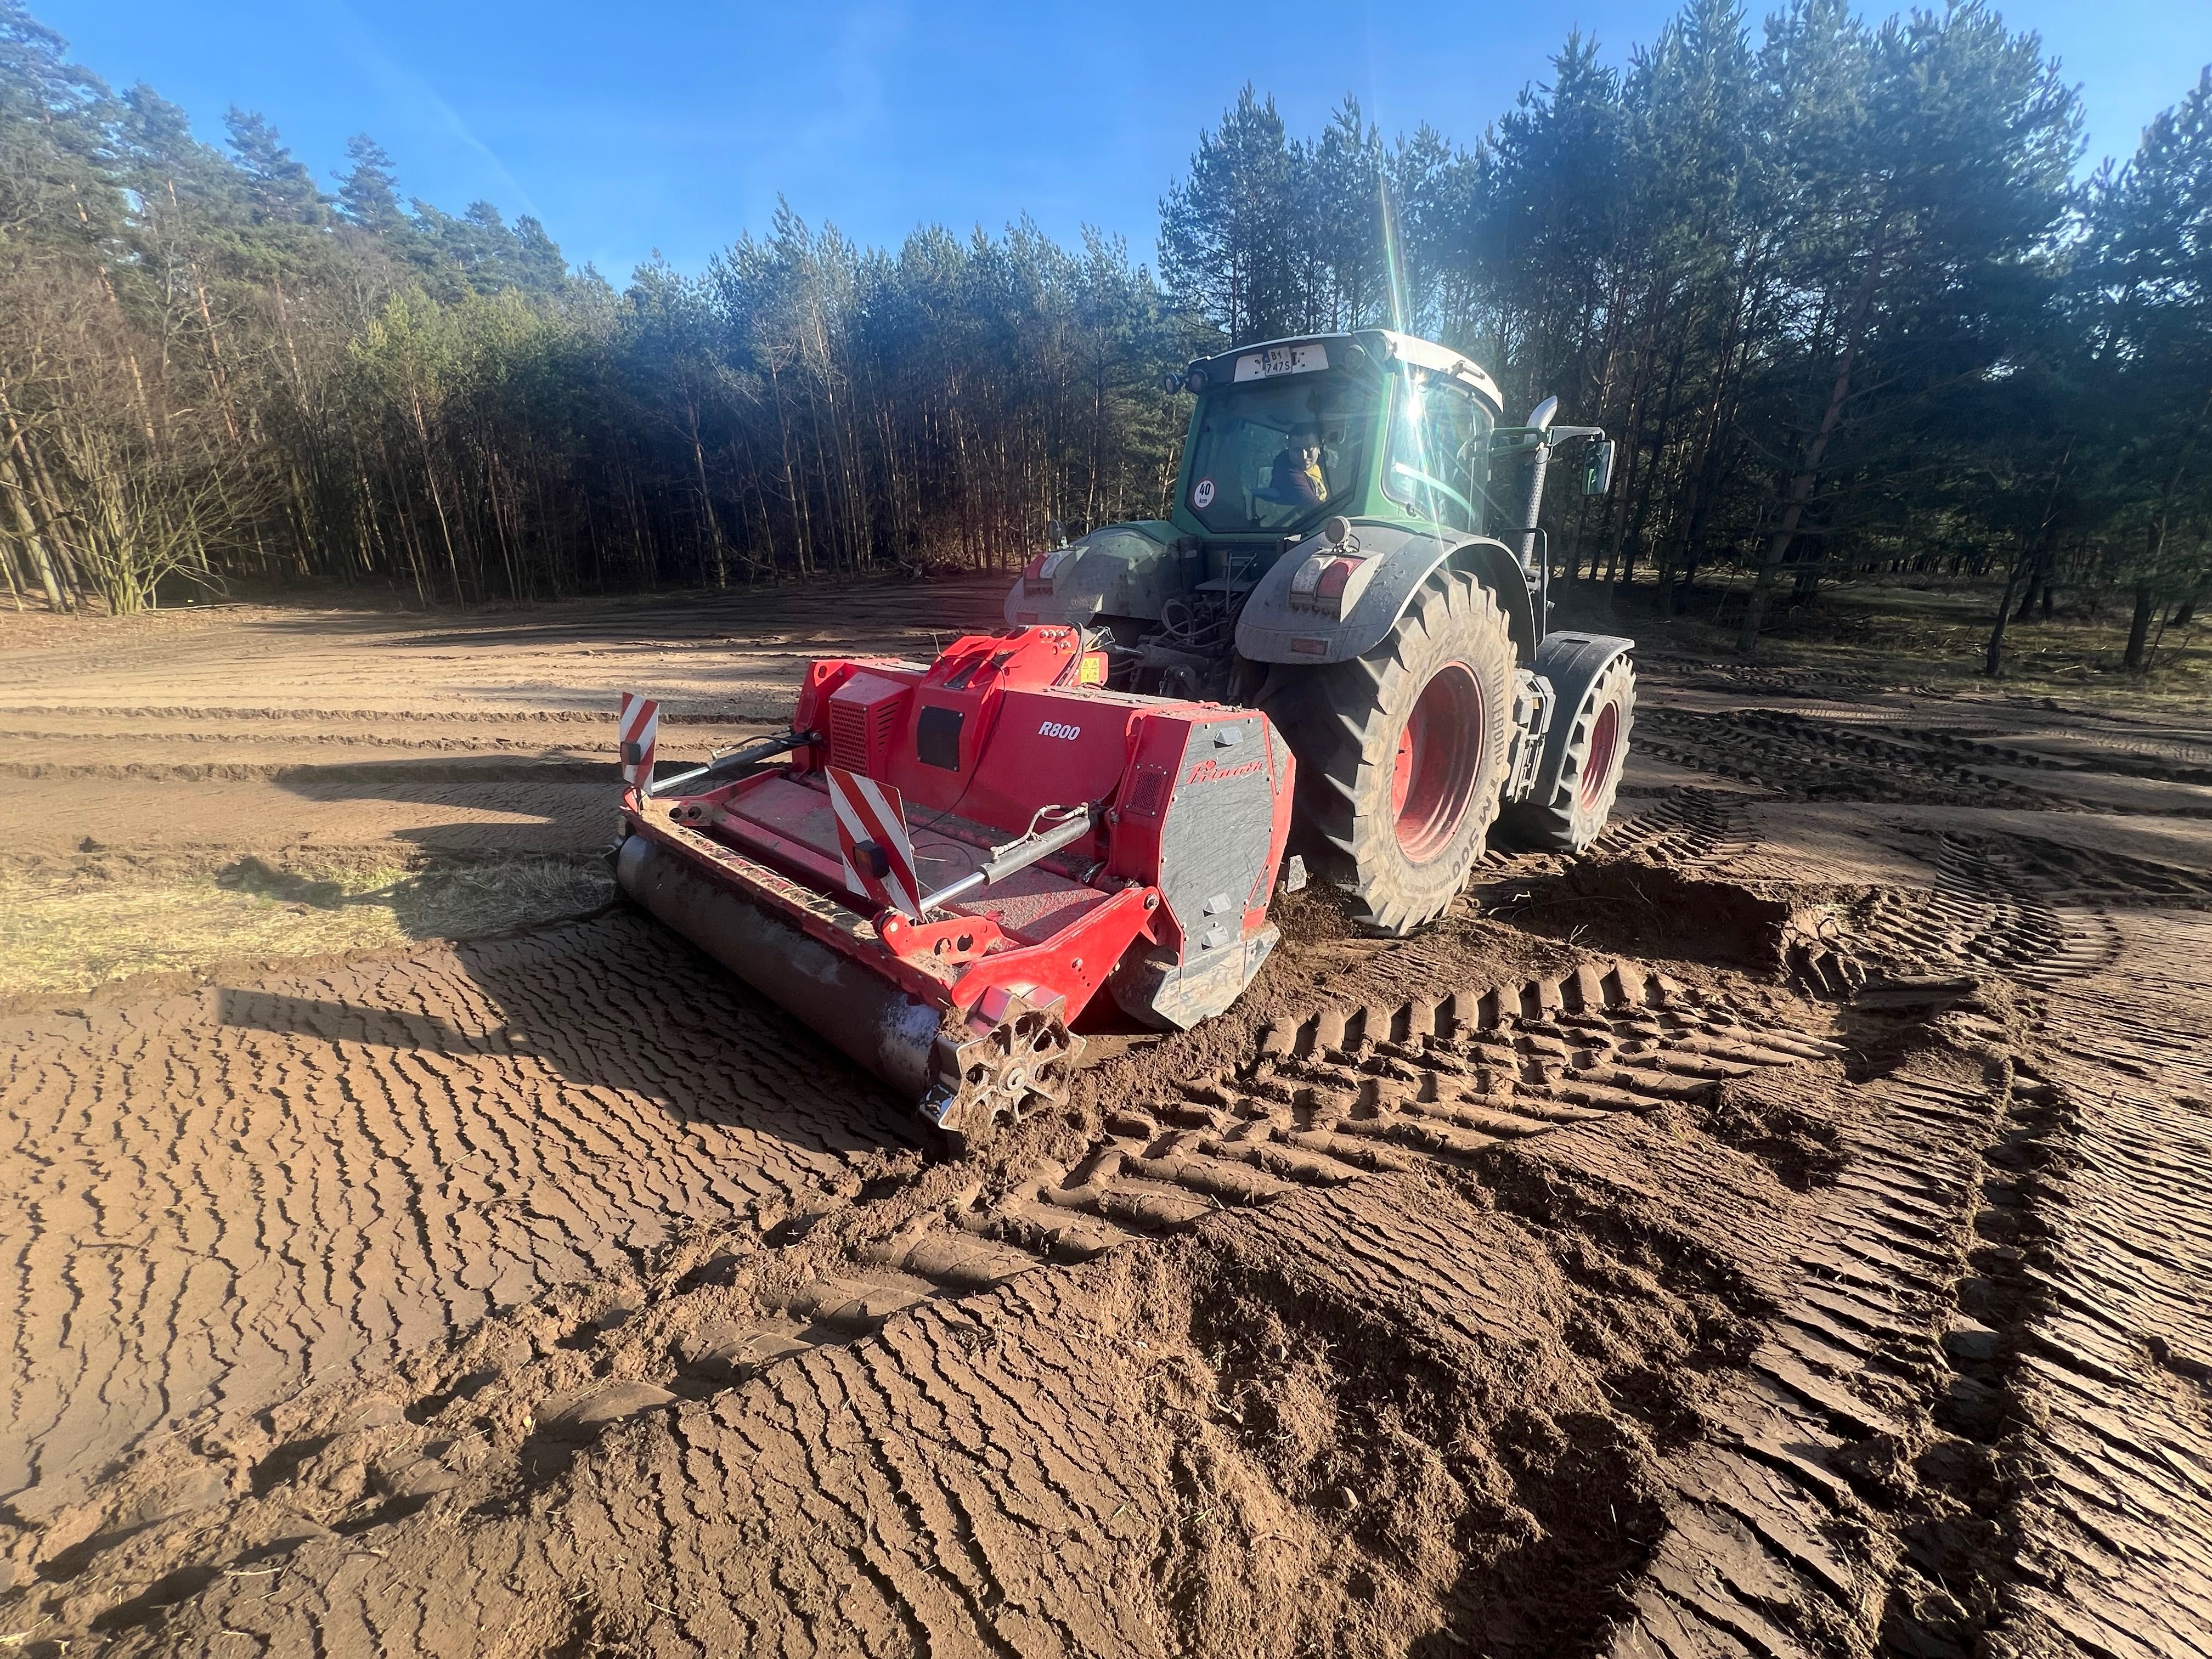
[[[1911,449],[1913,403],[1986,372],[2044,303],[2053,272],[2039,254],[2068,204],[2081,126],[2035,35],[2008,33],[1980,0],[1871,35],[1840,0],[1801,0],[1776,20],[1770,58],[1812,234],[1794,248],[1803,349],[1783,372],[1796,434],[1743,655],[1801,533],[1829,529],[1836,502],[1885,480]]]

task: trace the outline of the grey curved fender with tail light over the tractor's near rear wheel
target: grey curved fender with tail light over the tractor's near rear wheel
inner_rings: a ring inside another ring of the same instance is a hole
[[[1520,560],[1491,540],[1460,540],[1400,524],[1367,524],[1354,520],[1352,533],[1367,568],[1352,588],[1352,608],[1343,617],[1325,611],[1303,611],[1292,604],[1290,584],[1298,566],[1329,544],[1312,535],[1298,542],[1252,588],[1237,619],[1237,655],[1250,661],[1283,661],[1321,668],[1352,661],[1380,646],[1398,617],[1413,604],[1422,582],[1444,566],[1471,575],[1498,595],[1513,630],[1515,661],[1535,657],[1535,606],[1522,580]]]

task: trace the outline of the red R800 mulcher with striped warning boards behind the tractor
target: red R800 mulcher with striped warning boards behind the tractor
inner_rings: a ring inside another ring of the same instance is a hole
[[[1190,1026],[1276,940],[1290,748],[1254,710],[1104,677],[1068,626],[816,661],[790,732],[657,783],[641,706],[617,880],[980,1146],[1066,1097],[1102,987]]]

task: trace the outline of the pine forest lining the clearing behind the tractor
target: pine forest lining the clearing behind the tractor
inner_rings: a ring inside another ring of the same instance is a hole
[[[1568,35],[1455,133],[1347,97],[1301,135],[1223,88],[1157,270],[785,208],[608,276],[407,199],[372,137],[330,181],[250,111],[215,146],[0,0],[11,599],[1004,568],[1164,515],[1192,356],[1374,325],[1613,431],[1555,580],[1681,608],[1725,577],[1745,653],[1865,571],[2110,606],[2130,668],[2212,599],[2212,71],[2086,168],[2079,95],[1986,4],[1690,0],[1613,58]]]

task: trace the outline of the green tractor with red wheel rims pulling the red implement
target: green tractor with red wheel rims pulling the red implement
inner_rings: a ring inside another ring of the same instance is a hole
[[[1031,560],[1006,622],[1077,624],[1108,684],[1261,708],[1298,759],[1296,834],[1402,936],[1495,832],[1582,852],[1635,721],[1632,639],[1551,633],[1537,509],[1559,445],[1604,495],[1613,445],[1526,425],[1458,352],[1389,330],[1201,358],[1175,509]]]

